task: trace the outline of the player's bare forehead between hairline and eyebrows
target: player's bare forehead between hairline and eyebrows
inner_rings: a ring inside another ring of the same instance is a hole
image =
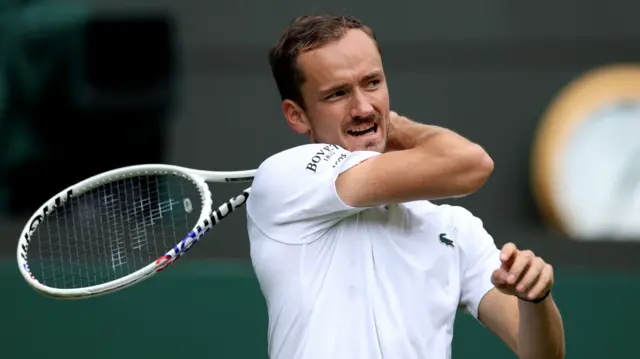
[[[305,85],[316,87],[333,82],[354,81],[382,70],[382,59],[371,37],[361,30],[349,30],[340,40],[298,57]]]

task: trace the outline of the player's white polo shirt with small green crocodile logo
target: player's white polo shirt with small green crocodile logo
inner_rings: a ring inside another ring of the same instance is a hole
[[[482,222],[417,201],[353,208],[337,176],[377,152],[309,144],[265,160],[247,201],[271,359],[444,359],[499,251]],[[398,173],[402,176],[402,173]]]

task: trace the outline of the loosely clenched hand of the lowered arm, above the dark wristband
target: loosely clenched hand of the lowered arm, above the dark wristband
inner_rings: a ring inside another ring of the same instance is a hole
[[[553,286],[553,267],[530,250],[519,250],[507,243],[500,252],[502,265],[491,276],[491,282],[502,293],[535,301]]]

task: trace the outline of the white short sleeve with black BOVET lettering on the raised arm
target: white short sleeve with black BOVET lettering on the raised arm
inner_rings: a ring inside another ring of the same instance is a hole
[[[335,181],[342,172],[379,155],[310,144],[265,160],[247,200],[247,216],[266,236],[287,244],[315,241],[341,219],[365,208],[346,205]]]

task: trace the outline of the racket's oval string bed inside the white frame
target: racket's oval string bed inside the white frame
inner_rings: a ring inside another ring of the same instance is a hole
[[[117,180],[46,216],[31,237],[38,280],[80,288],[124,277],[164,255],[189,233],[202,208],[199,187],[173,175]]]

